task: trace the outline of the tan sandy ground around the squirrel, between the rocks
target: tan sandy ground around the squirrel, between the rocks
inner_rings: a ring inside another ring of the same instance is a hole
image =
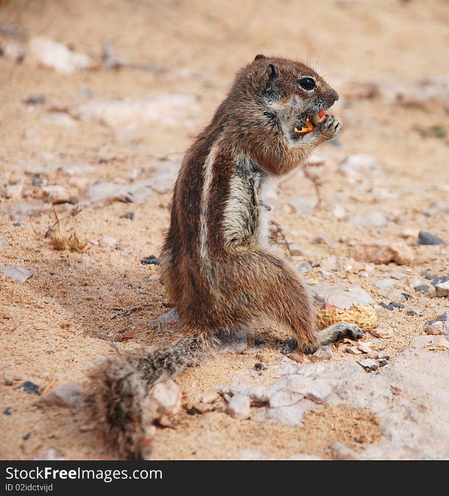
[[[159,346],[173,338],[162,330],[147,329],[148,321],[166,312],[170,302],[163,287],[151,279],[158,274],[157,267],[140,264],[141,258],[159,254],[168,224],[169,192],[154,192],[137,203],[84,209],[64,227],[76,230],[81,240],[92,241],[83,253],[52,248],[44,238],[54,221],[48,214],[17,220],[5,209],[19,202],[45,205],[44,185],[60,184],[77,196],[81,187],[96,180],[130,184],[163,170],[163,158],[181,156],[210,120],[236,69],[258,53],[308,61],[341,96],[335,108],[343,122],[338,146],[322,145],[319,152],[325,165],[313,169],[323,183],[320,208],[310,213],[289,209],[291,200],[315,199],[313,186],[301,172],[280,184],[279,194],[272,199],[273,219],[288,241],[303,250],[302,257],[291,260],[316,263],[306,274],[311,284],[360,284],[378,302],[386,303],[388,291],[376,288],[375,280],[402,272],[405,277],[396,287],[409,293],[410,300],[405,309],[386,312],[380,321],[394,328],[394,337],[364,338],[392,359],[423,335],[426,321],[441,313],[440,307],[449,306],[447,299],[413,290],[414,279],[425,282],[422,270],[448,274],[447,247],[417,246],[416,236],[401,238],[407,228],[416,233],[430,231],[449,242],[447,212],[435,207],[449,196],[449,138],[423,137],[417,131],[435,123],[447,131],[447,106],[405,107],[381,97],[356,97],[353,91],[354,85],[366,82],[408,83],[447,75],[447,2],[435,0],[423,6],[415,1],[285,0],[275,6],[263,0],[11,1],[0,2],[1,26],[62,42],[87,53],[98,65],[105,39],[110,39],[120,57],[166,66],[164,71],[100,67],[64,75],[27,58],[17,64],[0,57],[0,179],[2,185],[21,182],[27,195],[0,198],[0,265],[33,272],[23,284],[0,273],[0,375],[15,379],[12,385],[3,380],[0,384],[0,410],[11,411],[11,415],[0,414],[1,458],[30,459],[52,448],[67,459],[113,459],[101,437],[86,430],[91,423],[88,407],[43,409],[35,406],[37,396],[18,386],[32,381],[42,391],[69,380],[86,385],[86,371],[95,360],[115,353],[110,341],[117,340],[123,330],[133,338],[118,343],[121,349]],[[11,38],[1,35],[0,40]],[[18,43],[26,46],[27,41]],[[71,108],[91,101],[170,92],[187,95],[194,102],[194,109],[187,112],[188,122],[123,129],[70,116]],[[45,96],[45,104],[24,103],[30,95]],[[58,115],[70,116],[70,124],[46,118],[55,109]],[[376,157],[384,172],[356,181],[338,173],[340,160],[360,153]],[[73,164],[90,167],[71,176],[67,170]],[[342,218],[333,214],[336,206],[344,207]],[[383,211],[390,221],[377,228],[351,224],[352,217],[371,210]],[[134,212],[134,219],[123,217],[129,212]],[[311,244],[322,234],[332,242]],[[115,238],[116,246],[100,246],[103,236]],[[409,244],[414,263],[379,265],[370,277],[343,268],[330,275],[319,273],[320,261],[336,257],[344,262],[353,256],[355,245],[379,239]],[[285,250],[284,255],[288,256]],[[410,306],[423,315],[409,315]],[[127,316],[112,318],[129,310]],[[273,380],[280,357],[276,339],[289,336],[267,324],[248,336],[250,346],[256,337],[266,341],[261,349],[268,368],[261,376],[254,370],[254,356],[222,354],[177,379],[185,410],[176,429],[158,429],[155,458],[235,459],[244,457],[245,450],[262,450],[275,458],[297,453],[327,458],[333,441],[358,449],[376,439],[375,416],[337,407],[307,414],[301,428],[238,421],[218,412],[187,415],[186,410],[205,392],[230,384],[237,376],[261,383]],[[331,346],[333,361],[359,358],[346,353],[346,345]],[[435,353],[448,352],[438,348]]]

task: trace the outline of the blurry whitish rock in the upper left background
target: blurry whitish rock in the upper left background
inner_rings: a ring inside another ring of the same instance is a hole
[[[28,56],[37,64],[70,74],[93,66],[91,58],[82,53],[70,52],[67,46],[42,36],[30,39]],[[27,60],[28,60],[27,56]]]

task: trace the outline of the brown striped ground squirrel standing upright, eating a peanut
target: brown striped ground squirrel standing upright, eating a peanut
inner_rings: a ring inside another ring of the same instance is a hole
[[[267,316],[290,329],[304,353],[363,335],[345,322],[318,330],[310,289],[268,246],[264,185],[304,166],[320,143],[338,135],[339,119],[323,112],[336,100],[307,65],[257,55],[186,152],[161,256],[182,338],[109,358],[92,374],[98,421],[121,456],[141,457],[149,389],[211,354],[219,332]]]

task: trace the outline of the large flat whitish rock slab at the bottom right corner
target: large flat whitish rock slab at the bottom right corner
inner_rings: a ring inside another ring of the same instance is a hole
[[[366,374],[355,362],[299,365],[285,359],[276,382],[260,386],[241,379],[228,390],[254,398],[254,406],[259,404],[252,411],[256,420],[290,426],[301,426],[304,412],[323,405],[377,414],[380,437],[361,445],[362,451],[350,453],[358,459],[447,459],[445,370],[449,370],[449,356],[426,350],[399,353],[386,374]]]

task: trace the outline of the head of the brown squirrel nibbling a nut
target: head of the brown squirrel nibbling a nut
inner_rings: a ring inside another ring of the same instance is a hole
[[[301,129],[307,133],[310,122],[317,123],[338,100],[338,93],[307,65],[265,55],[257,55],[238,73],[234,88],[245,101],[251,99],[275,116],[289,135],[295,129],[298,138]]]

